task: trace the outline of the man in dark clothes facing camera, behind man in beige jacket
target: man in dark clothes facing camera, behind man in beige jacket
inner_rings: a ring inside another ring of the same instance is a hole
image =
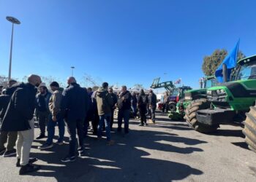
[[[38,124],[40,134],[37,136],[37,140],[45,138],[45,126],[48,124],[50,110],[49,110],[49,100],[51,93],[48,92],[48,89],[44,83],[39,85],[39,94],[36,98],[36,113],[38,117]]]

